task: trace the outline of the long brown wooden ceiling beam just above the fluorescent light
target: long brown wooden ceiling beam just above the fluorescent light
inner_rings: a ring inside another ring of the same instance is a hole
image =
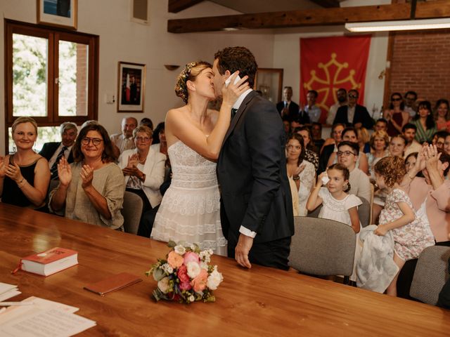
[[[411,4],[317,8],[304,11],[281,11],[224,15],[206,18],[167,20],[167,32],[214,32],[227,28],[267,29],[316,25],[344,25],[347,22],[409,20]],[[450,1],[420,2],[416,19],[450,18]]]

